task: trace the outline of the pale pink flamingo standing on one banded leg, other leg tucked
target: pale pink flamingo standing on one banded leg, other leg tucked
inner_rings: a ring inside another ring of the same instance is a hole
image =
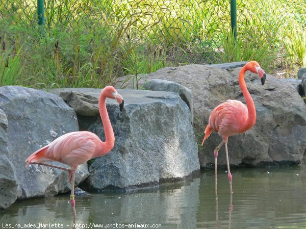
[[[25,162],[30,164],[38,164],[62,169],[69,172],[69,182],[71,183],[70,202],[75,213],[75,200],[74,200],[74,177],[75,170],[79,165],[87,162],[90,159],[106,155],[115,144],[115,136],[110,122],[108,112],[106,109],[106,98],[116,99],[120,105],[120,111],[123,109],[123,98],[112,86],[105,87],[99,96],[99,112],[105,130],[105,142],[101,141],[98,136],[88,131],[71,132],[55,139],[48,145],[33,152]],[[69,165],[71,169],[45,164],[47,161],[58,161]]]

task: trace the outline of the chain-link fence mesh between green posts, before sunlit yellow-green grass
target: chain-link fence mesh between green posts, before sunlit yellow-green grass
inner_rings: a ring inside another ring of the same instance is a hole
[[[40,0],[38,0],[39,2]],[[245,30],[277,34],[292,17],[305,24],[303,1],[288,6],[286,0],[241,0],[237,2],[238,34]],[[50,0],[44,1],[46,28],[71,31],[108,25],[125,28],[127,37],[152,45],[188,48],[200,43],[220,48],[231,31],[230,0]],[[236,2],[236,1],[235,1]],[[0,17],[13,18],[24,27],[37,26],[37,0],[0,0]],[[250,33],[251,34],[251,33]],[[222,47],[221,47],[222,48]]]

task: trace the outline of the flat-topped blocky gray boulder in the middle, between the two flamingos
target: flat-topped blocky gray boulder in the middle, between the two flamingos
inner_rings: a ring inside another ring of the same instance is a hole
[[[63,96],[67,94],[65,91],[98,98],[101,90],[52,90]],[[115,147],[109,154],[91,162],[90,176],[80,184],[81,188],[100,190],[116,187],[126,190],[182,180],[199,171],[190,110],[178,94],[145,90],[118,92],[124,98],[122,113],[116,100],[107,99],[107,109],[116,138]],[[87,105],[84,103],[84,106]],[[80,108],[80,104],[75,106]],[[104,140],[100,117],[90,116],[78,115],[80,130],[91,131]]]

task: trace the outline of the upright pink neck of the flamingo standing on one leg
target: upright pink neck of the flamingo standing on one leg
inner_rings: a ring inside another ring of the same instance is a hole
[[[101,151],[99,156],[107,154],[115,145],[115,135],[112,124],[106,109],[106,96],[102,92],[99,97],[99,112],[105,132],[105,142],[101,141]]]

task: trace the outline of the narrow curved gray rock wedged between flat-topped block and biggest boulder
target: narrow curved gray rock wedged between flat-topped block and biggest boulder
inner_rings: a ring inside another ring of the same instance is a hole
[[[178,93],[183,101],[187,104],[190,110],[190,121],[193,123],[193,101],[192,101],[192,92],[187,87],[182,86],[181,84],[174,83],[167,80],[149,80],[144,86],[146,90],[151,91],[171,91]]]

